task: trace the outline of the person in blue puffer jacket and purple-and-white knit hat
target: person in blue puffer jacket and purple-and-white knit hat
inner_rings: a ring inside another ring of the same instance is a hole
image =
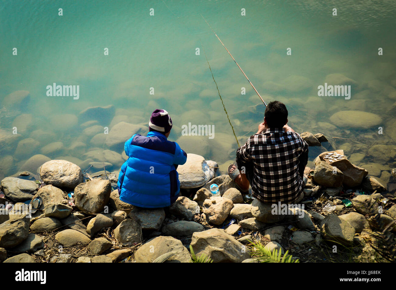
[[[156,109],[150,117],[147,136],[135,134],[125,142],[128,160],[118,177],[120,200],[146,208],[168,207],[179,197],[177,165],[186,163],[187,154],[176,142],[168,141],[172,119]]]

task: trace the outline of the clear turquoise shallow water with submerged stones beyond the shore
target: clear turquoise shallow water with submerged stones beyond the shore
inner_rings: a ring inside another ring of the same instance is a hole
[[[63,8],[63,16],[58,16],[58,8]],[[149,15],[150,8],[154,16]],[[246,16],[240,15],[241,8]],[[337,8],[337,16],[331,15],[332,8]],[[234,160],[238,145],[200,40],[241,145],[257,131],[264,107],[201,13],[266,102],[280,100],[287,105],[292,128],[325,134],[354,164],[369,164],[370,174],[392,183],[395,10],[394,1],[2,1],[0,128],[3,140],[13,126],[20,135],[10,146],[2,146],[2,174],[24,169],[30,155],[41,154],[41,148],[53,142],[62,142],[63,147],[46,156],[69,156],[83,164],[88,159],[84,153],[103,146],[90,143],[91,136],[70,115],[109,104],[115,106],[116,116],[125,116],[118,121],[133,124],[147,124],[154,109],[164,108],[174,124],[170,139],[178,140],[185,151],[220,165]],[[17,56],[12,55],[13,47]],[[108,56],[103,55],[105,47]],[[200,55],[195,54],[197,47]],[[291,56],[286,55],[287,47]],[[378,47],[383,48],[382,56]],[[318,85],[333,73],[353,80],[350,100],[318,96]],[[46,87],[53,83],[79,85],[79,99],[48,97]],[[241,95],[241,87],[246,95]],[[18,90],[30,92],[29,102],[6,100]],[[371,112],[382,121],[369,128],[334,126],[330,117],[345,110]],[[215,137],[179,139],[181,126],[188,122],[215,125]],[[37,148],[15,152],[18,142],[29,137],[39,142]],[[72,149],[76,141],[86,146]],[[370,151],[375,145],[390,147]],[[310,160],[321,151],[310,147]],[[103,161],[100,154],[95,156],[94,161]],[[119,164],[109,167],[118,168]]]

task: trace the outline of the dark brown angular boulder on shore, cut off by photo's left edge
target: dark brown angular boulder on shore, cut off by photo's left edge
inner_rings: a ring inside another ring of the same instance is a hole
[[[0,247],[12,248],[25,241],[29,235],[29,221],[25,215],[20,215],[0,224]]]

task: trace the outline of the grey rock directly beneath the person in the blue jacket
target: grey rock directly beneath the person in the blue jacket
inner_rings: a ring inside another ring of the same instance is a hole
[[[143,209],[143,208],[134,208],[130,213],[129,217],[140,224],[142,230],[155,230],[158,231],[162,222],[165,219],[165,211],[164,209]]]

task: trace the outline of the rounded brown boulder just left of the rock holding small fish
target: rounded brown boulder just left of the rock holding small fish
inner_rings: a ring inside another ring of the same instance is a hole
[[[341,170],[331,166],[327,162],[319,161],[314,171],[315,183],[323,186],[337,187],[341,186],[344,175]]]

